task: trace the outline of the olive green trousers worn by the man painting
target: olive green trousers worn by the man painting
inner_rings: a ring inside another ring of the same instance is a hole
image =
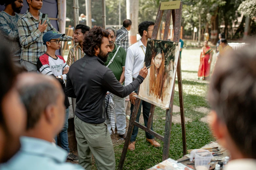
[[[114,170],[115,154],[106,123],[91,124],[75,116],[79,164],[91,170],[92,154],[98,170]]]

